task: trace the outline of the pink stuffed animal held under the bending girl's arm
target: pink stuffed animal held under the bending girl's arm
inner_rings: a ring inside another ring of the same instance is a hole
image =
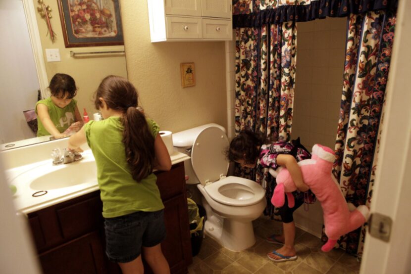
[[[311,159],[298,163],[303,174],[304,183],[315,194],[321,203],[325,234],[328,241],[321,247],[324,252],[330,251],[340,236],[362,226],[368,219],[369,209],[365,205],[355,207],[345,200],[340,185],[331,173],[335,160],[331,148],[315,144],[312,147]],[[273,170],[270,173],[276,175]],[[294,206],[294,197],[290,192],[297,190],[291,175],[283,168],[276,176],[277,186],[271,198],[271,203],[276,207],[284,205],[285,194],[288,206]]]

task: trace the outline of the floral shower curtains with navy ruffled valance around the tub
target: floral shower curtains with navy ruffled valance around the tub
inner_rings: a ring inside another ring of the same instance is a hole
[[[347,61],[336,141],[339,159],[334,174],[340,178],[348,201],[369,205],[395,25],[393,13],[385,11],[395,10],[396,6],[397,0],[233,0],[236,134],[248,128],[273,140],[290,139],[297,57],[295,22],[348,17]],[[366,58],[358,68],[357,56],[360,60]],[[366,110],[368,114],[364,114]],[[351,124],[356,121],[358,125]],[[274,217],[270,198],[275,179],[264,170],[237,168],[236,174],[254,179],[266,189],[265,214]],[[364,228],[354,231],[340,244],[350,253],[360,254],[364,234]]]

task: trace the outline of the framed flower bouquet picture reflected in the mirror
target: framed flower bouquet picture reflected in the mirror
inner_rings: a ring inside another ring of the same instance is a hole
[[[57,0],[66,47],[124,45],[119,0]]]

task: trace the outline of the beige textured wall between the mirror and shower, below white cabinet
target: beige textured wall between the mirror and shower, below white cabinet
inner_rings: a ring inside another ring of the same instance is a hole
[[[227,128],[224,42],[151,43],[147,1],[122,0],[129,80],[163,130],[215,122]],[[180,63],[194,62],[196,86],[181,87]]]

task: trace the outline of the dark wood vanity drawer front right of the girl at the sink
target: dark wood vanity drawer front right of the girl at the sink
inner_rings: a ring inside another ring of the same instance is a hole
[[[156,171],[154,174],[163,201],[185,192],[184,163],[173,165],[170,171]]]

